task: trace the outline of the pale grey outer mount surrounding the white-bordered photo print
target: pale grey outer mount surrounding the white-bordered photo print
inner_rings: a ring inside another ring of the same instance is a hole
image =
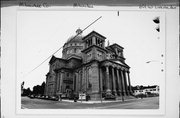
[[[15,88],[17,87],[17,81],[14,79],[16,76],[15,72],[15,63],[16,62],[16,56],[15,56],[15,48],[16,46],[16,24],[14,23],[14,19],[16,18],[16,12],[19,8],[18,7],[10,7],[10,8],[4,8],[2,9],[2,42],[1,42],[1,47],[2,47],[2,80],[1,80],[1,115],[3,118],[6,117],[18,117],[18,118],[25,118],[25,117],[43,117],[43,118],[54,118],[54,117],[69,117],[69,114],[39,114],[38,111],[33,110],[35,112],[38,112],[38,114],[19,114],[18,109],[18,102],[17,102],[17,93]],[[120,8],[119,10],[135,10],[134,8]],[[26,9],[27,10],[27,9]],[[45,10],[51,10],[51,9],[45,9]],[[52,9],[55,10],[55,9]],[[63,9],[64,10],[64,9]],[[111,9],[112,10],[112,9]],[[142,11],[138,10],[138,11]],[[144,11],[144,10],[143,10]],[[157,115],[157,114],[117,114],[118,117],[126,117],[126,118],[178,118],[179,116],[178,111],[179,111],[179,94],[174,94],[175,92],[179,92],[179,56],[178,56],[178,48],[179,48],[179,43],[177,39],[179,39],[179,25],[177,21],[179,21],[179,7],[176,10],[147,10],[147,11],[160,11],[160,12],[165,12],[166,14],[166,26],[168,28],[166,29],[166,67],[165,67],[165,72],[166,72],[166,90],[164,91],[164,96],[165,96],[165,104],[164,108],[165,111],[163,110],[162,115]],[[9,16],[6,16],[7,15]],[[12,16],[11,16],[12,15]],[[177,21],[176,21],[177,20]],[[172,26],[172,27],[171,27]],[[173,31],[173,32],[171,32]],[[11,57],[11,58],[10,58]],[[16,78],[17,79],[17,78]],[[20,90],[20,89],[19,89]],[[161,89],[160,89],[161,90]],[[20,93],[20,91],[19,91]],[[20,95],[20,94],[19,94]],[[15,98],[15,99],[13,99]],[[44,112],[46,112],[45,110]],[[49,111],[49,110],[48,110]],[[126,111],[126,110],[124,110]],[[26,109],[25,109],[26,112]],[[143,111],[142,111],[143,112]],[[163,115],[164,114],[164,115]],[[82,114],[72,114],[70,117],[81,117]],[[86,117],[92,117],[92,116],[97,116],[97,117],[113,117],[116,116],[116,114],[84,114],[83,117],[86,115]]]

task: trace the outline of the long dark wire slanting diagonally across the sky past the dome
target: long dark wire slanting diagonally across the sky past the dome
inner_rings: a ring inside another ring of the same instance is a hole
[[[87,27],[85,27],[80,33],[77,33],[71,40],[75,39],[79,34],[81,34],[83,31],[85,31],[88,27],[90,27],[92,24],[94,24],[96,21],[98,21],[102,16],[100,16],[98,19],[96,19],[94,22],[92,22],[90,25],[88,25]],[[44,62],[46,62],[51,56],[53,56],[54,54],[56,54],[63,46],[61,46],[58,50],[56,50],[53,54],[51,54],[49,57],[47,57],[43,62],[41,62],[38,66],[36,66],[34,69],[32,69],[31,71],[29,71],[27,73],[27,75],[29,75],[31,72],[33,72],[34,70],[36,70],[38,67],[40,67]],[[26,76],[27,76],[26,75]]]

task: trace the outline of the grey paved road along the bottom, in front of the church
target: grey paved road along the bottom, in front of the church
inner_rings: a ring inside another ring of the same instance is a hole
[[[50,101],[22,97],[23,109],[158,109],[159,97],[134,99],[108,103],[81,103],[67,101]]]

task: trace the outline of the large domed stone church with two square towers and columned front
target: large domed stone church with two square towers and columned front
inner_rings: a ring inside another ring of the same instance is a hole
[[[78,29],[63,46],[62,58],[52,56],[46,75],[45,95],[70,97],[85,93],[91,100],[108,95],[132,94],[129,69],[123,47],[105,47],[106,37],[92,31],[82,36]]]

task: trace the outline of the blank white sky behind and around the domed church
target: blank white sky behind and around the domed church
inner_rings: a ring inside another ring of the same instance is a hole
[[[17,79],[32,89],[46,80],[49,60],[32,71],[62,47],[78,28],[84,29],[100,20],[82,35],[96,31],[110,44],[124,47],[125,62],[131,67],[131,84],[161,85],[165,81],[164,17],[161,12],[138,11],[18,11],[17,13]],[[160,16],[160,32],[153,19]],[[55,54],[62,56],[62,49]],[[146,63],[151,61],[150,63]]]

